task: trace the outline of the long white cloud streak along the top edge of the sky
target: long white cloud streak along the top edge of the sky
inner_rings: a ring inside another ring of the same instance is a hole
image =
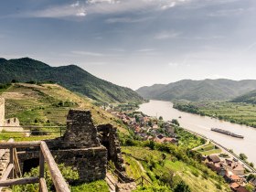
[[[50,6],[43,10],[22,13],[23,17],[67,17],[91,14],[120,14],[134,11],[163,11],[192,0],[87,0],[74,4]],[[109,22],[140,22],[129,18],[116,18]]]

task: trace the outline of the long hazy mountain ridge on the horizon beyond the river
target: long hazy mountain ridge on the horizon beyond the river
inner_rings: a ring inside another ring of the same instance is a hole
[[[142,87],[136,92],[145,99],[163,101],[225,101],[256,90],[256,80],[180,80]]]

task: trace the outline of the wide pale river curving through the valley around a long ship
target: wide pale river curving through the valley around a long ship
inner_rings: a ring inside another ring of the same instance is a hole
[[[247,155],[249,162],[253,162],[253,164],[256,165],[255,128],[219,121],[210,117],[202,117],[188,112],[180,112],[174,109],[173,103],[169,101],[149,101],[140,105],[140,109],[138,111],[144,112],[144,114],[149,116],[162,116],[165,121],[177,119],[182,127],[196,133],[201,133],[209,139],[212,139],[229,149],[233,149],[234,153],[237,155],[240,153]],[[239,133],[244,136],[244,139],[212,132],[210,131],[210,128],[212,127],[228,130],[233,133]]]

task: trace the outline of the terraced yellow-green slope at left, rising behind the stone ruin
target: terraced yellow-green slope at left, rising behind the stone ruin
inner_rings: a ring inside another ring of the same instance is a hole
[[[92,118],[95,124],[112,123],[119,130],[128,134],[128,132],[115,123],[115,118],[108,112],[102,111],[99,107],[93,105],[91,99],[75,94],[64,89],[58,84],[34,85],[27,83],[16,83],[1,93],[5,98],[5,118],[18,117],[20,123],[24,125],[65,125],[69,109],[91,110]],[[59,107],[58,103],[69,101],[68,107]],[[70,104],[71,103],[71,104]],[[35,123],[35,120],[37,123]],[[49,123],[48,123],[49,121]],[[2,139],[7,139],[7,133],[2,133]],[[37,140],[44,137],[23,138],[22,133],[8,133],[15,136],[16,140]],[[58,135],[48,135],[55,137]]]

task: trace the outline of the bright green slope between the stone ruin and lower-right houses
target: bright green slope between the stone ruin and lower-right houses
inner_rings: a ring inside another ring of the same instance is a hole
[[[138,146],[123,146],[122,151],[125,164],[130,170],[128,174],[133,178],[146,174],[154,185],[163,186],[163,183],[171,182],[172,188],[183,180],[192,192],[230,191],[224,180],[212,171],[208,170],[206,174],[206,171],[203,172],[194,165],[178,161],[175,155]],[[143,168],[136,163],[132,164],[131,159],[139,162]]]

